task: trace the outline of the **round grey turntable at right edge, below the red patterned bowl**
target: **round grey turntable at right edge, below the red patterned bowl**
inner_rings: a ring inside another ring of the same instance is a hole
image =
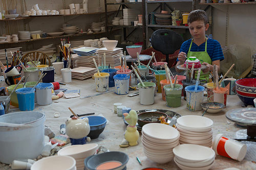
[[[247,126],[250,139],[256,137],[256,108],[239,108],[226,112],[226,117],[237,124]]]

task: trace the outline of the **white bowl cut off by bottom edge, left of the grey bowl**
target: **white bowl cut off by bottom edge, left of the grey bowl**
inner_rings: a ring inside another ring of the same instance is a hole
[[[74,170],[76,160],[71,156],[49,156],[32,164],[31,170]]]

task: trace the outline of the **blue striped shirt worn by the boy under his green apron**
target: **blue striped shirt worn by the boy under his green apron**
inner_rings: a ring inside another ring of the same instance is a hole
[[[190,43],[191,43],[191,39],[183,42],[180,47],[180,52],[184,52],[187,54],[187,52],[189,50]],[[204,52],[205,51],[205,42],[199,46],[193,42],[191,45],[190,51],[191,52]],[[211,61],[224,60],[221,44],[215,39],[210,39],[210,38],[207,39],[207,53],[210,56]],[[177,58],[177,61],[179,61],[178,58]]]

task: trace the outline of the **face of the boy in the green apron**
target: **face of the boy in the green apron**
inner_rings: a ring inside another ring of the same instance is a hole
[[[190,34],[194,37],[194,39],[204,39],[205,38],[205,31],[209,28],[209,24],[204,25],[204,21],[197,20],[193,21],[192,23],[188,23],[188,28]]]

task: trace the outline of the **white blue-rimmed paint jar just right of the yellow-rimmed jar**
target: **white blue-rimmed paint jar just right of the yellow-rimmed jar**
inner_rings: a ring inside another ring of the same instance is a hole
[[[125,74],[119,74],[114,76],[116,94],[129,93],[129,79],[130,76],[127,76]]]

